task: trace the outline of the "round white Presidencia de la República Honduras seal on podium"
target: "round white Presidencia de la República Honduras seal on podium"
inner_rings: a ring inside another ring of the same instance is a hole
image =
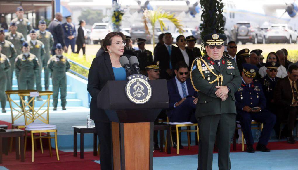
[[[125,86],[127,98],[138,105],[148,102],[152,96],[152,88],[148,82],[148,77],[142,74],[128,76],[128,82]]]

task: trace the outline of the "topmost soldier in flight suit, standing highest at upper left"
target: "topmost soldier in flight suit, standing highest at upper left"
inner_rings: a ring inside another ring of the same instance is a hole
[[[24,18],[24,9],[23,7],[17,7],[17,18],[11,20],[11,22],[15,22],[18,27],[18,32],[22,33],[25,37],[25,40],[27,40],[27,34],[32,29],[31,23],[27,18]]]

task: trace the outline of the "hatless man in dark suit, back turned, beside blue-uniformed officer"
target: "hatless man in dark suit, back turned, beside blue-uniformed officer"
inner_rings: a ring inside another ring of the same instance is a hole
[[[67,50],[67,47],[65,46],[65,42],[63,39],[64,33],[61,25],[62,19],[62,14],[56,13],[55,18],[49,24],[49,31],[52,33],[52,36],[54,38],[52,55],[55,55],[55,47],[58,43],[60,43],[62,47],[64,47],[64,50]]]

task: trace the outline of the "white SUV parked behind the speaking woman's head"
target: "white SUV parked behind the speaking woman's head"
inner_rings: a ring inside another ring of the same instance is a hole
[[[94,44],[98,44],[99,40],[104,39],[105,36],[110,32],[113,32],[113,29],[109,23],[94,23],[91,29],[90,39]]]

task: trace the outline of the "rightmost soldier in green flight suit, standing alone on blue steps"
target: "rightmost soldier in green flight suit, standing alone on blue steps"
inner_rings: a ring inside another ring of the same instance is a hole
[[[48,68],[52,73],[53,110],[57,110],[59,88],[62,110],[66,110],[66,71],[69,70],[70,65],[68,59],[62,56],[63,47],[60,43],[56,45],[55,52],[56,55],[52,56],[48,61]]]

